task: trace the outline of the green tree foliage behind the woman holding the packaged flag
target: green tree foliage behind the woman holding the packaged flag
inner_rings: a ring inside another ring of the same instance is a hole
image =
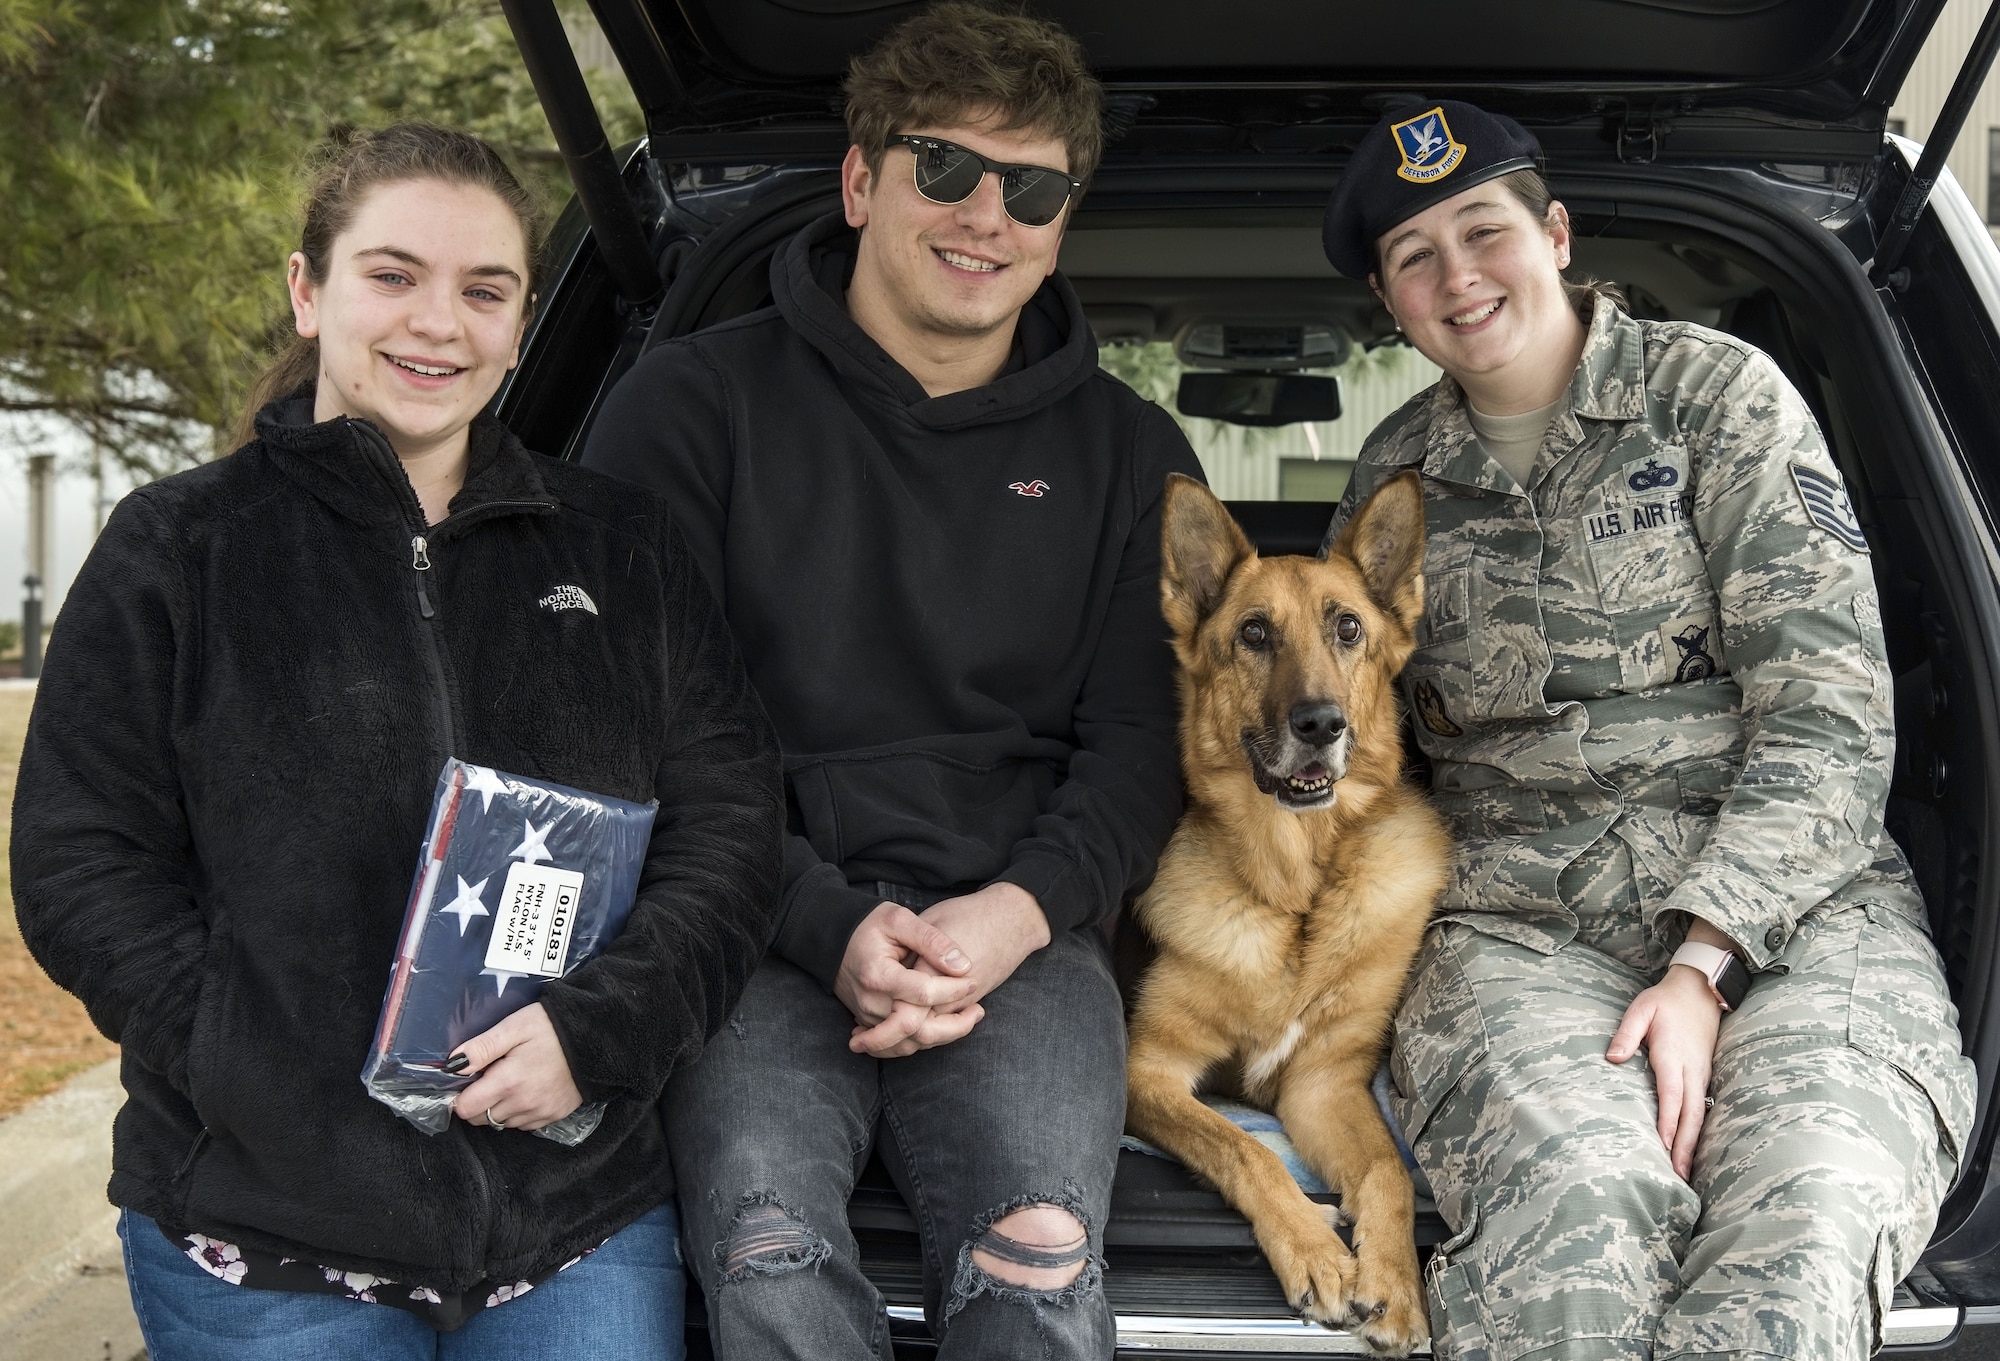
[[[636,136],[622,84],[596,92]],[[568,196],[496,0],[0,0],[0,412],[140,476],[216,452],[288,324],[300,166],[398,118]]]

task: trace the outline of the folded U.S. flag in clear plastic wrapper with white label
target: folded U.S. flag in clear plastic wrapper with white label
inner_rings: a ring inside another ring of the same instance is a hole
[[[446,761],[362,1067],[368,1095],[444,1133],[476,1079],[444,1063],[618,937],[656,811]],[[592,1103],[534,1133],[576,1145],[602,1117]]]

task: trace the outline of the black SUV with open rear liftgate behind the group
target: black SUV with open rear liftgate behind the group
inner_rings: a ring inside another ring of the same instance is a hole
[[[650,342],[770,302],[772,250],[840,202],[846,60],[918,6],[592,0],[648,124],[646,140],[614,156],[550,0],[504,2],[578,200],[550,246],[540,316],[500,414],[530,446],[576,456],[604,394]],[[1108,90],[1104,166],[1062,258],[1098,338],[1140,346],[1108,350],[1114,370],[1150,342],[1158,364],[1146,372],[1168,378],[1294,374],[1358,356],[1338,370],[1352,392],[1360,376],[1380,388],[1384,372],[1426,380],[1388,362],[1388,316],[1326,266],[1320,208],[1382,108],[1450,96],[1508,112],[1542,140],[1578,230],[1576,270],[1622,284],[1640,314],[1758,344],[1806,394],[1882,588],[1898,731],[1888,825],[1922,883],[1980,1073],[1966,1163],[1886,1341],[1988,1355],[2000,1337],[2000,250],[1948,174],[1928,180],[2000,42],[2000,4],[1932,154],[1918,160],[1884,134],[1942,6],[1038,4],[1084,42]],[[1294,426],[1310,458],[1284,458],[1270,412],[1240,416],[1264,444],[1204,436],[1208,458],[1196,440],[1266,552],[1318,546],[1340,450],[1352,458],[1388,410],[1380,398]],[[1322,460],[1326,440],[1340,448]],[[1442,1237],[1424,1209],[1420,1247]],[[914,1223],[880,1169],[850,1219],[898,1347],[930,1355]],[[1170,1163],[1124,1155],[1104,1237],[1120,1355],[1366,1351],[1292,1317],[1248,1225]],[[690,1347],[706,1355],[690,1295]]]

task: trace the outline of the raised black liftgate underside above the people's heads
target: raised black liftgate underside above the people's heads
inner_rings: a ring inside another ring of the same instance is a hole
[[[600,0],[598,14],[662,154],[738,146],[838,154],[848,58],[912,0]],[[1942,0],[1048,0],[1106,82],[1134,144],[1244,128],[1266,146],[1334,148],[1390,90],[1456,94],[1544,124],[1552,154],[1648,140],[1752,144],[1786,160],[1870,150]]]

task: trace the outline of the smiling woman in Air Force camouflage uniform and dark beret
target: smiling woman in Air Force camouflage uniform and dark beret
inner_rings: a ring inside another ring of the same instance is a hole
[[[1864,1357],[1974,1093],[1882,831],[1868,540],[1766,354],[1564,284],[1536,156],[1390,116],[1326,222],[1446,372],[1334,520],[1422,470],[1402,685],[1460,853],[1392,1073],[1438,1355]]]

